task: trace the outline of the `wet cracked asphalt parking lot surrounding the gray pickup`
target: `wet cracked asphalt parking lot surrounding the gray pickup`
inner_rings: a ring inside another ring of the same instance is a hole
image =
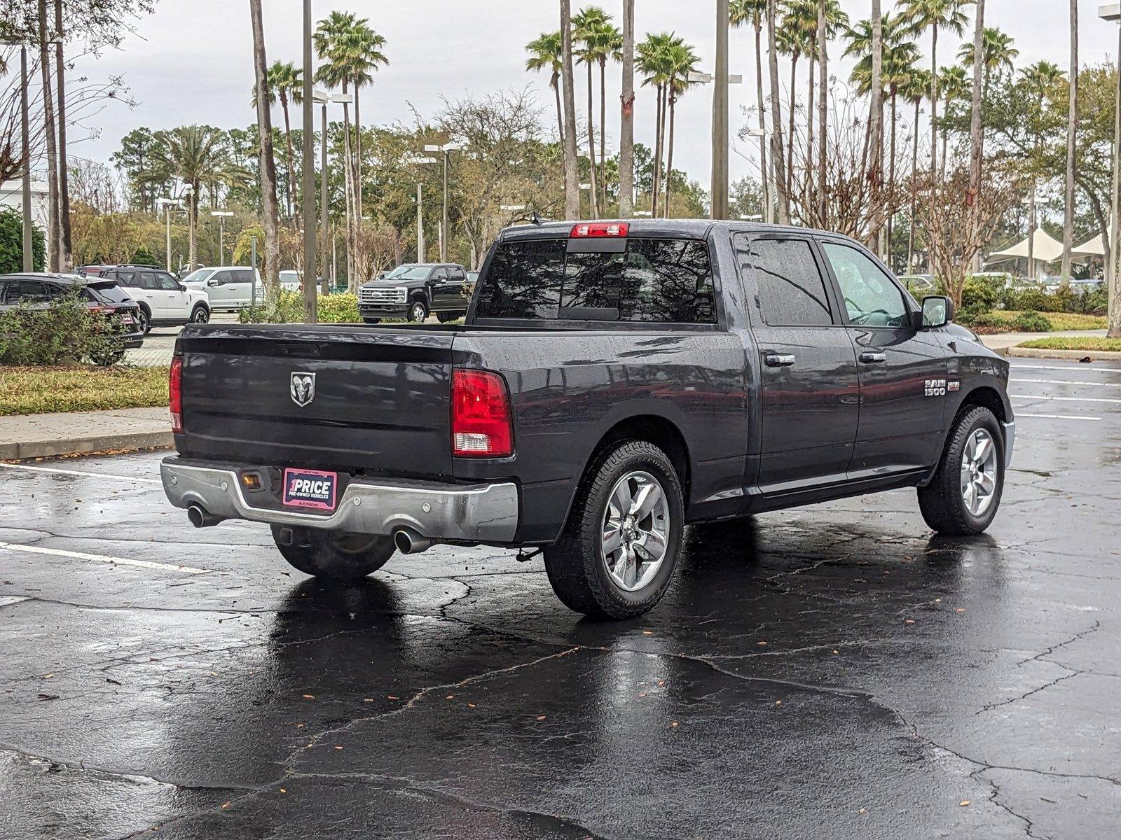
[[[161,452],[0,467],[0,837],[1115,838],[1121,364],[1012,375],[988,534],[695,528],[622,624],[493,549],[326,588]]]

